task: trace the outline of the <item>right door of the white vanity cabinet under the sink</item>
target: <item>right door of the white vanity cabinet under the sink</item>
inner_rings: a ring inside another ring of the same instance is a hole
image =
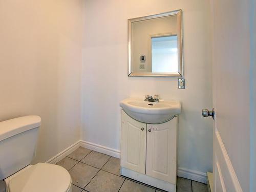
[[[176,184],[177,117],[147,124],[146,175]]]

